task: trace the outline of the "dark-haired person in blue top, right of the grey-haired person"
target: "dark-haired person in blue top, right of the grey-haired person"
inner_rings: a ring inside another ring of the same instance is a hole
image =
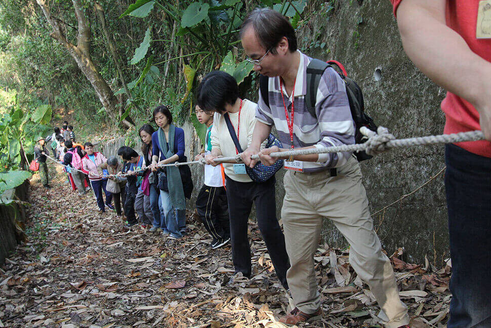
[[[125,202],[125,214],[126,220],[128,221],[125,227],[131,228],[138,224],[136,219],[135,210],[136,198],[140,192],[140,186],[142,183],[143,175],[145,171],[140,171],[143,166],[143,156],[138,155],[138,153],[131,147],[121,147],[118,154],[121,154],[121,158],[126,161],[129,165],[125,167],[123,173],[127,173],[127,184],[126,184],[126,202]],[[145,215],[145,213],[139,212],[138,215]],[[140,221],[143,223],[143,217],[140,216]]]

